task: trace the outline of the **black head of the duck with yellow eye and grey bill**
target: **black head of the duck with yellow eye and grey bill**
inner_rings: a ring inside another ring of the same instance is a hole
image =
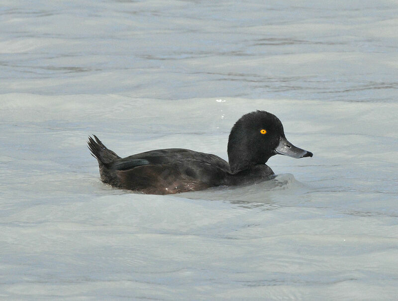
[[[233,174],[256,164],[265,164],[276,154],[293,158],[312,157],[312,153],[290,143],[281,120],[266,111],[240,117],[228,139],[228,161]]]

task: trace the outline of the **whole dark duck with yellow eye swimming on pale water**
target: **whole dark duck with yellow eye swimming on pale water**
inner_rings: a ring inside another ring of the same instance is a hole
[[[274,176],[266,164],[272,156],[313,155],[290,143],[281,120],[264,110],[246,113],[232,126],[228,162],[213,154],[182,148],[157,149],[121,158],[96,135],[93,137],[89,136],[88,147],[98,161],[101,181],[118,189],[151,195],[259,183]]]

